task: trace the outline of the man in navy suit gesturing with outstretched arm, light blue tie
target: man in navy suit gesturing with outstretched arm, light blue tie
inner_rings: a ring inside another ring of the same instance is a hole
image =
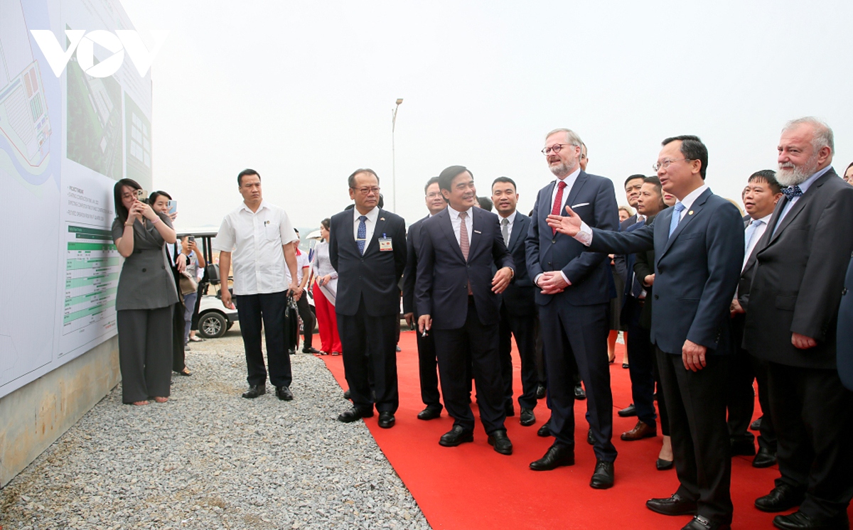
[[[664,191],[678,198],[646,227],[629,233],[589,228],[583,213],[548,216],[548,225],[590,251],[655,251],[651,338],[670,416],[681,482],[650,510],[693,515],[682,530],[731,527],[731,447],[726,424],[729,304],[740,279],[744,228],[740,211],[705,185],[708,150],[693,135],[663,141],[654,164]]]

